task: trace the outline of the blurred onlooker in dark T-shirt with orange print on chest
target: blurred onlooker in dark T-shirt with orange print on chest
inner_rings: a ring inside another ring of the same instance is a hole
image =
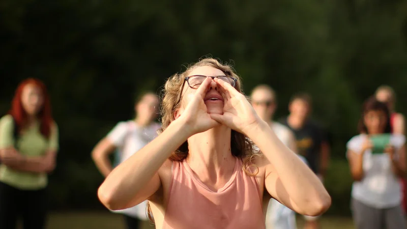
[[[311,97],[306,93],[294,95],[288,110],[288,117],[282,119],[281,123],[293,131],[298,154],[305,157],[312,171],[323,180],[328,169],[330,149],[322,128],[309,118]],[[304,228],[318,228],[318,217],[304,216]]]

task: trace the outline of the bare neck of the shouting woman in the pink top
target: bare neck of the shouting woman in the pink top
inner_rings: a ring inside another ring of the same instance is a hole
[[[231,130],[225,126],[195,134],[188,138],[187,162],[204,183],[218,189],[233,173],[236,158],[230,150]],[[218,184],[218,185],[216,185]]]

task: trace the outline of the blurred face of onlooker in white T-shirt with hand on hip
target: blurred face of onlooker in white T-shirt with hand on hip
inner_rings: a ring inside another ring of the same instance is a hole
[[[146,94],[136,104],[137,116],[142,120],[153,121],[158,114],[159,100],[154,94]]]

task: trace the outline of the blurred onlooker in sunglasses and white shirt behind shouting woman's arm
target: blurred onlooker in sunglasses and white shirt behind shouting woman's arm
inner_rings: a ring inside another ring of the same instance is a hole
[[[276,93],[274,90],[266,84],[258,85],[251,93],[251,104],[257,115],[269,123],[283,144],[292,151],[297,152],[293,132],[284,125],[272,121],[274,111],[277,108]],[[299,157],[305,162],[304,157],[300,155]],[[295,212],[280,204],[274,198],[271,198],[266,215],[266,228],[296,229],[296,224]]]

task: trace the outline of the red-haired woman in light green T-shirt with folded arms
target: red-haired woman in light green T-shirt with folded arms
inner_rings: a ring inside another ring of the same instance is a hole
[[[58,130],[45,85],[22,81],[0,119],[0,228],[45,228],[47,173],[55,167]]]

